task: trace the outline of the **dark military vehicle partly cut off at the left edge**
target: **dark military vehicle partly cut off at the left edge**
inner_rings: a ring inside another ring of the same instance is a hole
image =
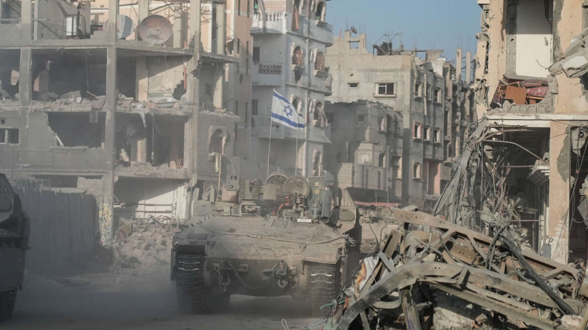
[[[22,286],[29,221],[21,199],[0,173],[0,321],[12,316],[16,291]]]

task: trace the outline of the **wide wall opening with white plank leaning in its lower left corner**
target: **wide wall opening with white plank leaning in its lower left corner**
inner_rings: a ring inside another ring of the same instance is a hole
[[[101,148],[106,115],[98,113],[92,122],[88,112],[49,112],[49,127],[55,133],[57,147]]]

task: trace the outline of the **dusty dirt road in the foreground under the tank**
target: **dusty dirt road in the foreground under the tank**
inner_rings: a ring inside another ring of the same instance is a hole
[[[235,295],[213,315],[180,314],[166,270],[147,274],[39,277],[27,274],[14,317],[0,329],[290,329],[316,322],[290,297]]]

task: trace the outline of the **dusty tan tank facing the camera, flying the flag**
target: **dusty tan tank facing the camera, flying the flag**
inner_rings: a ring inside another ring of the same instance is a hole
[[[192,227],[173,238],[171,278],[178,305],[222,311],[230,295],[290,295],[328,314],[359,262],[355,208],[340,207],[334,178],[286,177],[265,184],[230,176],[220,201],[195,208]],[[335,196],[335,198],[333,198]]]

